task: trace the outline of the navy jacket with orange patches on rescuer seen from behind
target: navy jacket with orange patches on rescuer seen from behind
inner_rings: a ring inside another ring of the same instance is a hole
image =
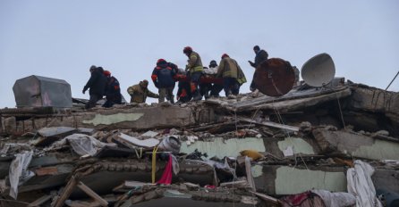
[[[151,79],[157,88],[174,87],[175,71],[168,66],[168,63],[158,64],[152,71]]]

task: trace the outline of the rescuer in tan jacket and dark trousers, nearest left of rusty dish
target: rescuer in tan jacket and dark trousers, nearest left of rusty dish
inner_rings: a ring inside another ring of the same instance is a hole
[[[239,93],[240,85],[237,81],[239,70],[241,70],[240,65],[234,59],[230,58],[228,54],[222,55],[216,77],[223,78],[223,89],[226,97],[233,98],[233,95]]]

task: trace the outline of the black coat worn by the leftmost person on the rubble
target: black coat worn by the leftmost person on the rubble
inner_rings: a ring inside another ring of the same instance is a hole
[[[98,95],[102,97],[106,90],[106,76],[98,69],[95,69],[91,72],[90,79],[83,90],[86,91],[88,88],[90,88],[89,95]]]

